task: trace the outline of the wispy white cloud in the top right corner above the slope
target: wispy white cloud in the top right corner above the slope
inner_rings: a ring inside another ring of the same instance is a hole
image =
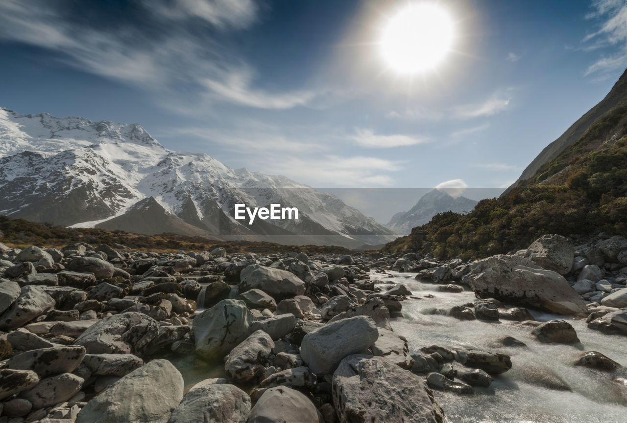
[[[598,29],[587,34],[583,43],[588,51],[618,46],[618,52],[603,54],[588,66],[585,76],[593,73],[609,73],[627,66],[627,0],[594,0],[593,12],[587,19],[600,21]]]

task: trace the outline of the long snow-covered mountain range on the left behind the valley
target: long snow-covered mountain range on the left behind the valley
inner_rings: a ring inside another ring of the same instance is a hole
[[[297,207],[298,220],[234,219],[237,203]],[[0,108],[0,214],[73,227],[355,247],[394,232],[285,176],[171,151],[142,126]]]

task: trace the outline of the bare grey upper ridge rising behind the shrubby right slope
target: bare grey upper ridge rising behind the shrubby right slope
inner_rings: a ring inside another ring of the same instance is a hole
[[[542,150],[540,154],[531,163],[529,163],[529,166],[522,171],[522,175],[520,175],[518,180],[514,183],[514,185],[510,186],[508,190],[511,190],[522,181],[528,180],[534,176],[540,167],[560,155],[562,151],[566,150],[568,146],[572,145],[572,143],[577,141],[579,137],[584,135],[586,130],[602,116],[608,113],[608,111],[619,104],[624,103],[627,103],[627,69],[618,81],[616,81],[616,84],[614,84],[608,95],[606,95],[603,100],[599,101],[596,106],[587,111],[585,115],[581,116],[579,120],[573,123],[571,127],[566,130],[566,132],[557,138],[557,140],[547,145],[544,150]]]

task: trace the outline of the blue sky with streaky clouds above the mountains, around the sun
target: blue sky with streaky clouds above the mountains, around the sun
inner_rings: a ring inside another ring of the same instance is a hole
[[[627,66],[627,0],[434,0],[453,47],[402,75],[377,43],[408,3],[4,0],[0,105],[315,188],[498,188]]]

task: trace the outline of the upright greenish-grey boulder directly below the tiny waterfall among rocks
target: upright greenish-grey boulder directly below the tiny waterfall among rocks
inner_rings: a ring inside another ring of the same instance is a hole
[[[222,359],[248,337],[252,315],[240,300],[222,300],[194,318],[196,354],[206,360]]]

